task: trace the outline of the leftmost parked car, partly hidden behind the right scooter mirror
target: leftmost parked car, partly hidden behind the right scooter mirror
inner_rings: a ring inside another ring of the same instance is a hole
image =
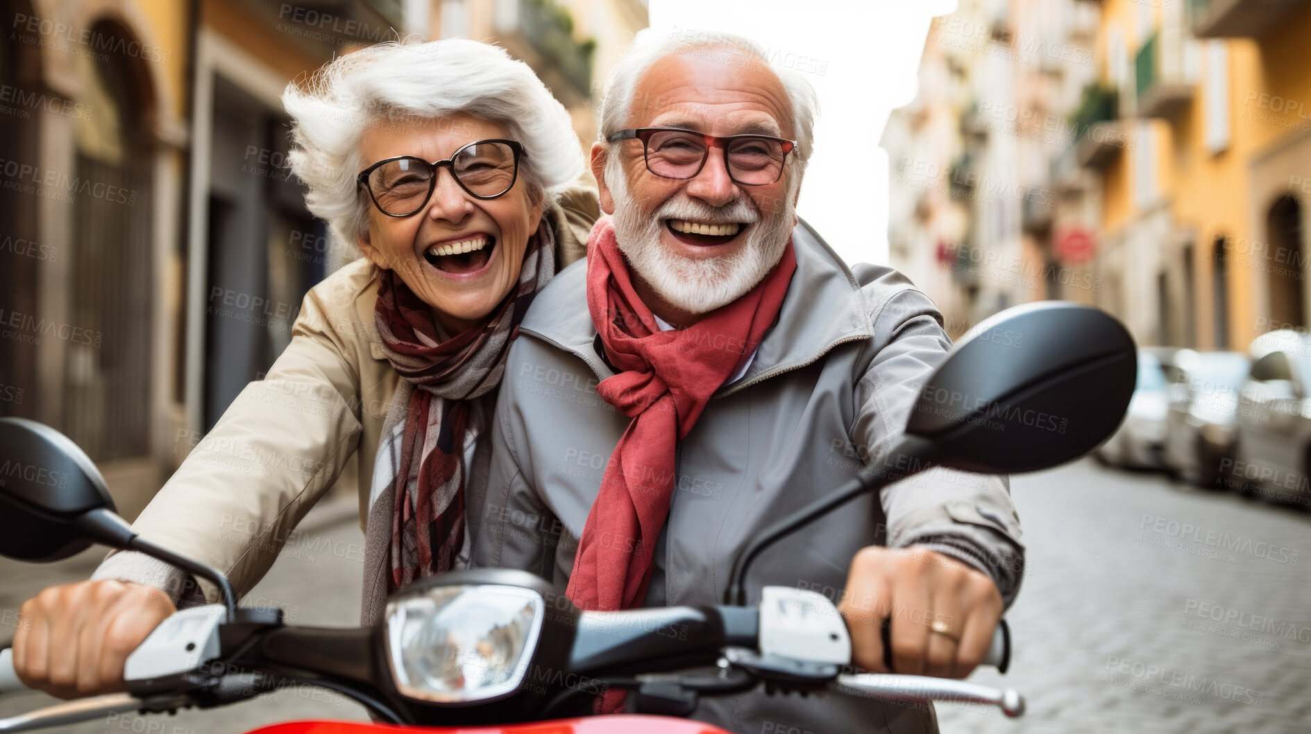
[[[1099,459],[1126,468],[1165,468],[1167,373],[1173,372],[1177,352],[1171,347],[1138,349],[1134,396],[1120,429],[1097,449]]]

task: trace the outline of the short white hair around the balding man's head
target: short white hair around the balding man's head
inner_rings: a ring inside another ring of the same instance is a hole
[[[805,171],[814,141],[815,118],[819,115],[819,98],[815,97],[814,88],[796,69],[771,64],[764,48],[756,42],[733,33],[682,30],[658,35],[633,47],[615,64],[606,82],[599,115],[602,145],[608,145],[610,136],[624,128],[632,111],[638,80],[656,61],[670,54],[691,54],[722,60],[729,65],[742,64],[745,58],[770,67],[779,76],[792,103],[792,130],[797,137],[792,161],[797,166],[797,173]]]

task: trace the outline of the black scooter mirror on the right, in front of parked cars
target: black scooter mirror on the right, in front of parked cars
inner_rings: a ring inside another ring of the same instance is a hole
[[[920,390],[906,433],[933,461],[1015,474],[1079,458],[1120,425],[1138,355],[1106,313],[1065,301],[1007,309],[969,331]]]

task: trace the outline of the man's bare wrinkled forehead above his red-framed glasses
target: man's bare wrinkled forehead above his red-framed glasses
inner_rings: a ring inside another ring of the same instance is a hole
[[[638,79],[627,127],[794,137],[792,102],[767,64],[733,48],[665,55]]]

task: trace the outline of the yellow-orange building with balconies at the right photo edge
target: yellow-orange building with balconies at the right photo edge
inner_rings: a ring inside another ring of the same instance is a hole
[[[1304,1],[1105,4],[1099,51],[1133,149],[1099,171],[1103,256],[1138,339],[1244,349],[1306,327],[1308,31]]]

